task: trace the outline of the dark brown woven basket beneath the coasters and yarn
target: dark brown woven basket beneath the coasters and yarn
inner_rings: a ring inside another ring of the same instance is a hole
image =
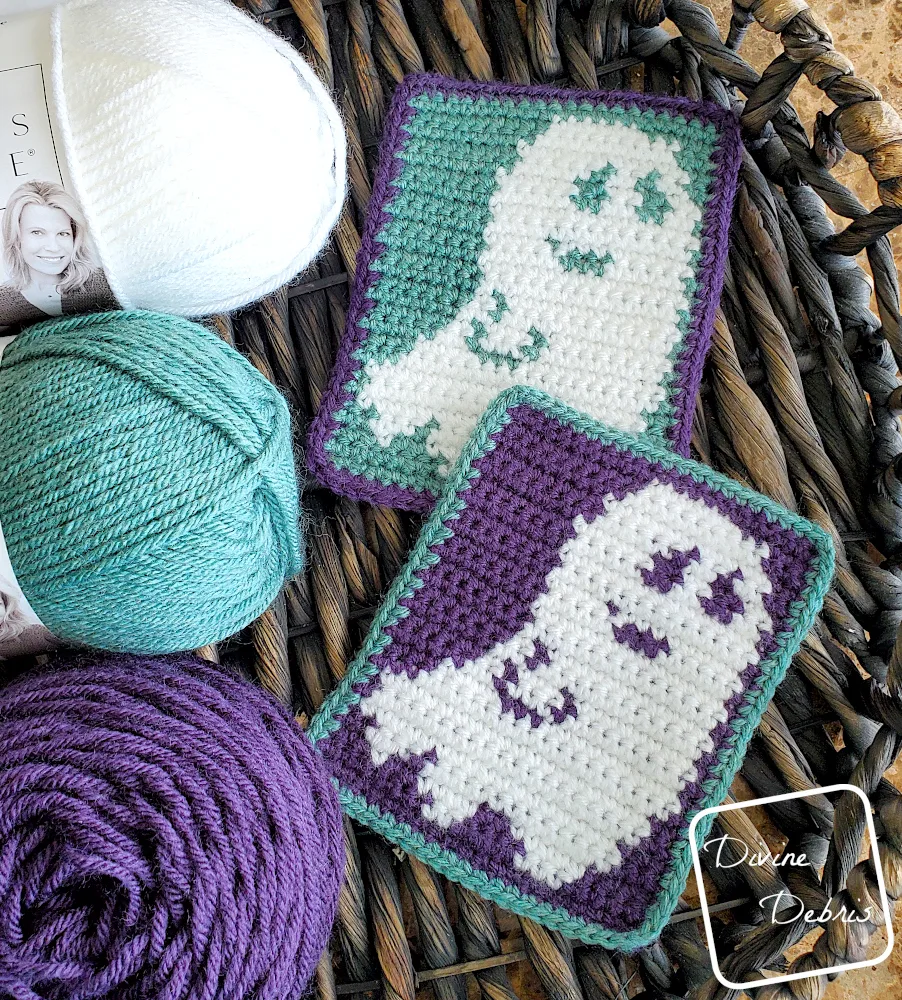
[[[693,448],[702,461],[826,528],[838,572],[733,792],[749,798],[837,782],[860,786],[876,809],[887,891],[902,894],[902,795],[883,777],[902,743],[902,644],[894,654],[902,621],[902,325],[886,236],[902,224],[902,120],[854,75],[803,0],[737,0],[726,41],[692,0],[243,5],[295,43],[333,88],[350,140],[350,199],[331,248],[300,284],[218,324],[287,393],[299,441],[343,331],[383,116],[405,72],[631,87],[704,97],[741,112],[747,153]],[[665,16],[679,37],[659,27]],[[753,18],[780,33],[784,47],[762,75],[738,51]],[[803,75],[837,105],[818,115],[813,146],[787,103]],[[882,207],[874,212],[830,173],[846,149],[867,158],[879,183]],[[827,206],[853,220],[839,235]],[[878,315],[855,257],[863,248]],[[302,721],[342,677],[419,527],[408,515],[353,503],[315,483],[305,499],[308,573],[249,630],[244,648],[255,676]],[[818,911],[832,900],[879,914],[874,870],[859,863],[862,810],[850,796],[780,804],[756,814],[758,829],[748,812],[728,814],[738,819],[722,829],[747,843],[788,840],[825,862],[820,883],[790,883]],[[317,980],[324,1000],[380,993],[413,1000],[430,990],[435,1000],[479,993],[485,1000],[738,996],[713,978],[688,898],[658,944],[616,955],[493,909],[351,823],[347,838],[339,920]],[[779,892],[785,876],[773,867],[742,868],[744,875],[731,871],[729,879],[709,870],[720,899],[731,904],[732,922],[717,923],[721,967],[731,980],[874,954],[877,922],[834,921],[813,948],[806,936],[819,925],[763,923],[755,901]],[[790,961],[784,953],[793,945]],[[757,995],[815,1000],[827,985],[822,976]]]

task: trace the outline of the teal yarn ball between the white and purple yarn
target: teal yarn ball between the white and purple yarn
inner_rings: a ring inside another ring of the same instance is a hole
[[[302,568],[288,408],[204,327],[52,320],[0,364],[0,526],[59,638],[166,653],[243,628]]]

